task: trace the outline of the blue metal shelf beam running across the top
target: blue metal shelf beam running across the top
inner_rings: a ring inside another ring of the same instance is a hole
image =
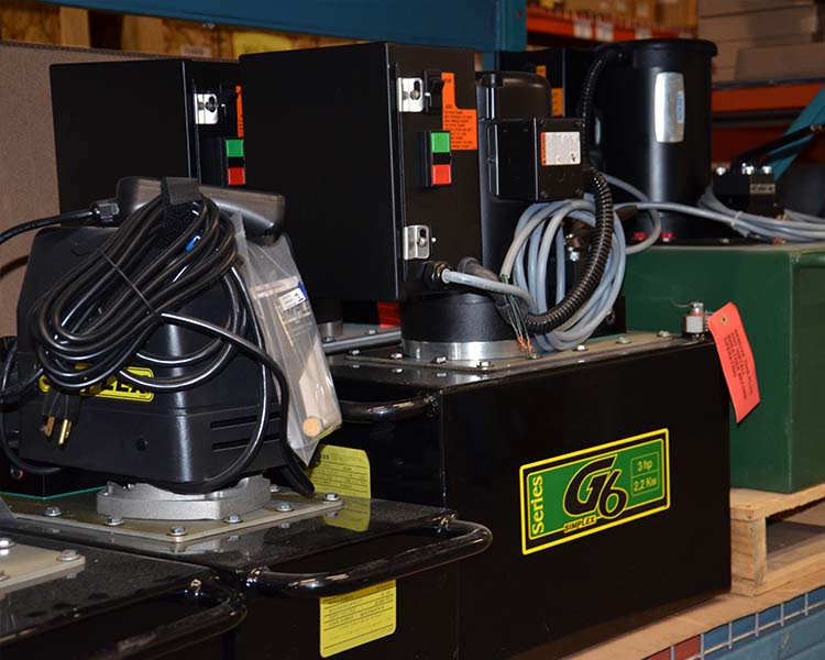
[[[73,0],[70,4],[201,23],[479,52],[524,51],[527,46],[527,0]]]

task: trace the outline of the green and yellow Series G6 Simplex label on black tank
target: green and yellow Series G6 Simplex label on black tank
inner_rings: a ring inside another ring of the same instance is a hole
[[[660,429],[522,465],[522,554],[668,509],[669,442]]]

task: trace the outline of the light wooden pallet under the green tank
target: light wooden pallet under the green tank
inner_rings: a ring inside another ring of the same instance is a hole
[[[825,569],[825,484],[730,491],[732,587],[754,596]]]

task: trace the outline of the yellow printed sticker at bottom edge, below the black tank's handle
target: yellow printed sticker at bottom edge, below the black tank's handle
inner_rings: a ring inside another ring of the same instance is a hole
[[[321,658],[395,632],[395,580],[321,598]]]

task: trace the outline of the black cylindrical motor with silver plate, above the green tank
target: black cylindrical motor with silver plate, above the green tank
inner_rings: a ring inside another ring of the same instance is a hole
[[[711,63],[716,45],[662,38],[605,48],[619,48],[622,55],[605,66],[595,85],[603,170],[654,201],[695,204],[711,183]],[[726,231],[678,213],[662,213],[662,224],[663,240],[674,242]]]

